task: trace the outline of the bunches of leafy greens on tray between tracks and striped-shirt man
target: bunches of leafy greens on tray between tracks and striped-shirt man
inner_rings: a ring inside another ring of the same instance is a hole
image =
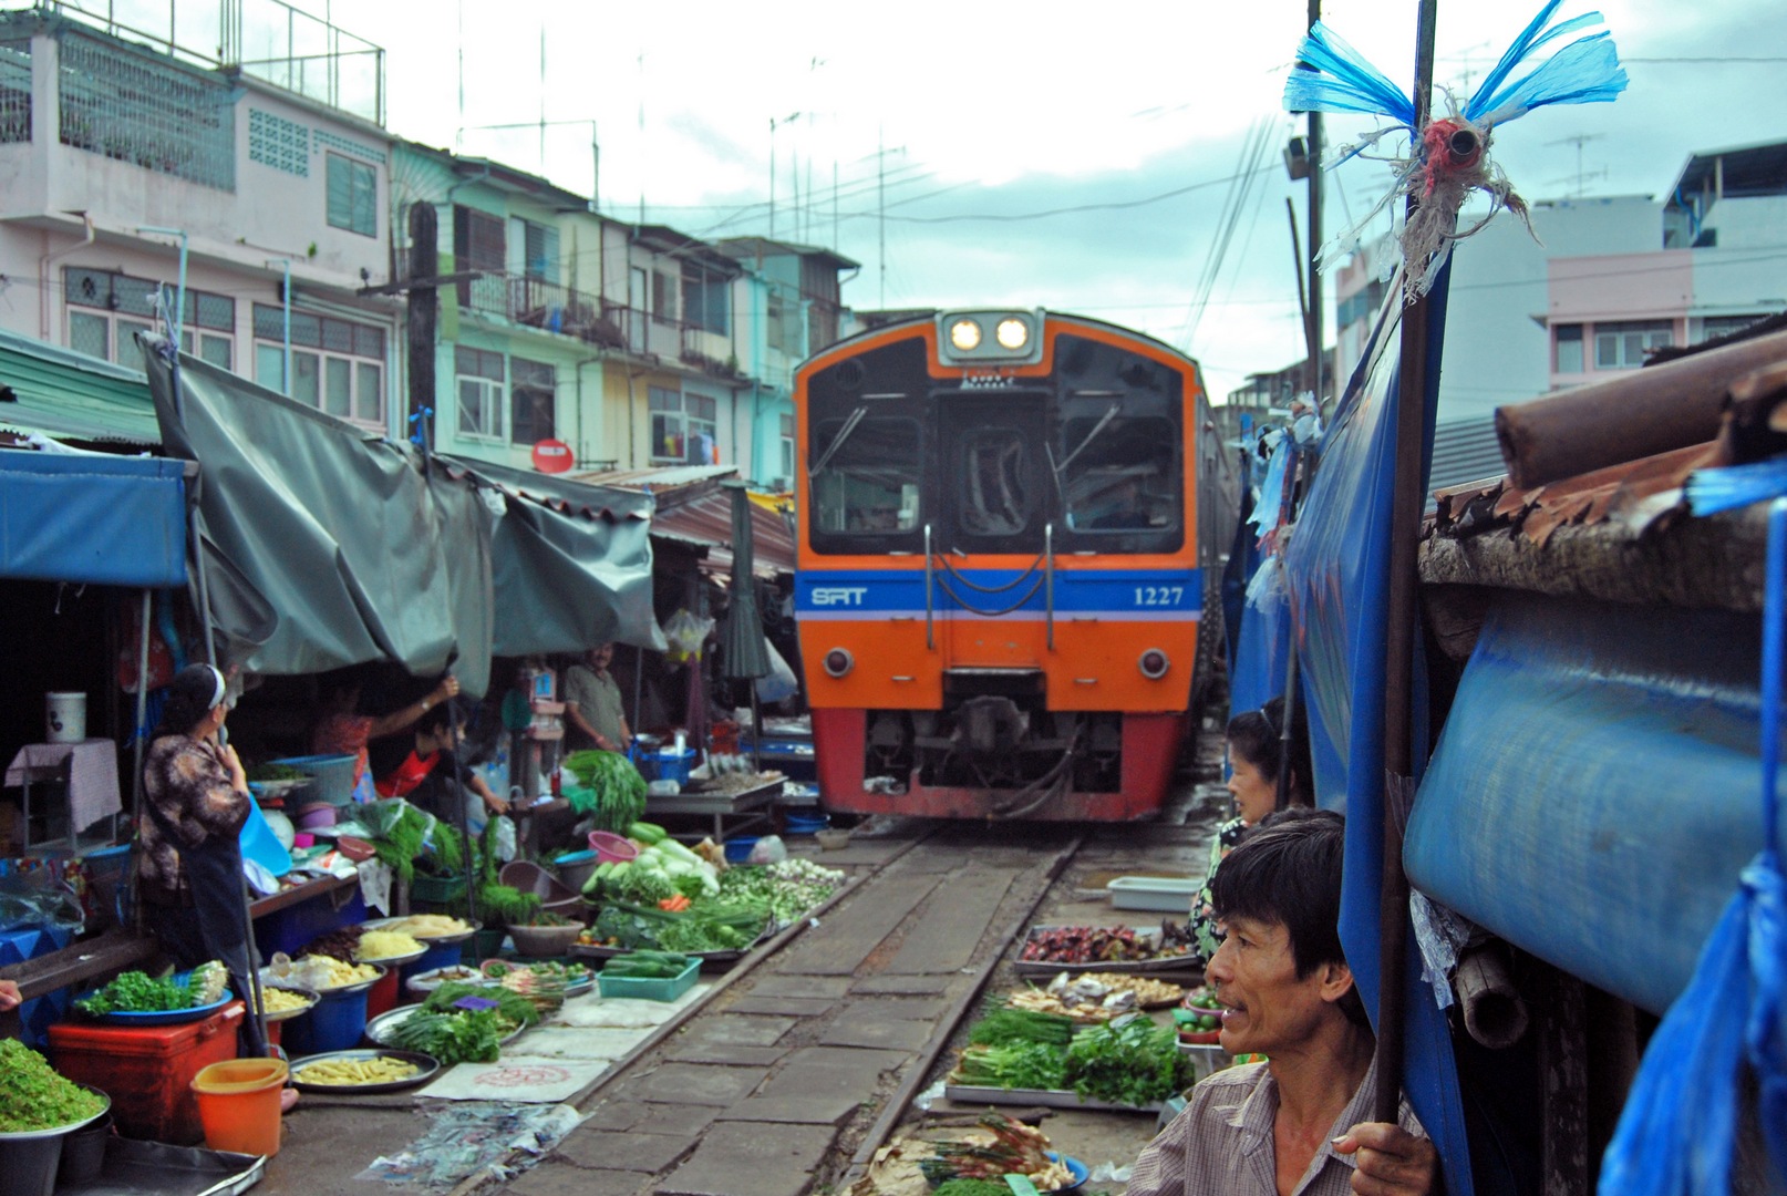
[[[1153,1105],[1192,1080],[1170,1026],[1135,1014],[1079,1026],[1070,1017],[995,1008],[969,1028],[949,1082],[985,1089],[1072,1091],[1081,1099]]]

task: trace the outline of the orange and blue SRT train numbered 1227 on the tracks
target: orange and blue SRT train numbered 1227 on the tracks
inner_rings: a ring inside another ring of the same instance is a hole
[[[1197,363],[1101,320],[944,311],[813,356],[793,406],[826,808],[1156,813],[1238,497]]]

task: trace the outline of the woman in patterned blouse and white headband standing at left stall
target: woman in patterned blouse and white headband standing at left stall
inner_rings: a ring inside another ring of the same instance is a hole
[[[236,749],[218,742],[229,717],[223,674],[188,665],[168,686],[161,726],[143,760],[138,880],[145,922],[180,967],[222,960],[231,989],[252,992],[241,872],[241,826],[248,819],[248,774]],[[243,1019],[245,1049],[266,1053],[254,1017]]]

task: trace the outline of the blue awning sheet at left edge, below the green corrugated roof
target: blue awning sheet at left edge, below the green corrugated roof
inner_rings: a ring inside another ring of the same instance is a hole
[[[0,577],[186,585],[184,461],[0,451]]]

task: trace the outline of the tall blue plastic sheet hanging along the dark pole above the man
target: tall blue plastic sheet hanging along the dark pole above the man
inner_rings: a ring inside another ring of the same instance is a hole
[[[1449,274],[1442,274],[1428,300],[1433,329],[1426,347],[1428,393],[1414,397],[1428,411],[1422,484],[1433,447],[1447,282]],[[1353,962],[1353,978],[1372,1024],[1380,994],[1378,906],[1385,819],[1385,604],[1396,411],[1403,399],[1397,390],[1399,331],[1401,306],[1392,291],[1392,302],[1380,313],[1372,341],[1322,440],[1322,467],[1285,551],[1303,692],[1310,703],[1317,799],[1324,806],[1344,808],[1347,815],[1340,942]],[[1415,635],[1415,627],[1397,631]],[[1415,726],[1424,720],[1422,704],[1417,695]],[[1415,747],[1419,760],[1419,738]],[[1471,1196],[1476,1187],[1451,1032],[1421,983],[1415,951],[1408,953],[1403,983],[1408,1019],[1403,1091],[1440,1151],[1446,1189],[1455,1196]]]

